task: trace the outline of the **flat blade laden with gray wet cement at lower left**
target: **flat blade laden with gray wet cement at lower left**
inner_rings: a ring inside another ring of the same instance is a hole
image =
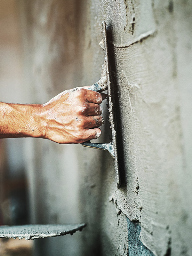
[[[73,225],[23,225],[23,226],[1,226],[0,237],[25,238],[26,240],[53,236],[73,235],[76,231],[82,231],[86,224]]]

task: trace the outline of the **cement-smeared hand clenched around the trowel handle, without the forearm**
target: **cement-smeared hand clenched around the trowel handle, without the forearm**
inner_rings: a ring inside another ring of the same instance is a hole
[[[104,124],[100,103],[106,94],[82,87],[61,92],[42,105],[43,138],[61,144],[97,139]]]

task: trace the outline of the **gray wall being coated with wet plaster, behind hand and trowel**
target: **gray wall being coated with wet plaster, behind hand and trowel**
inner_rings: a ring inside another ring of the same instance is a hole
[[[32,221],[87,223],[73,237],[38,241],[39,255],[134,255],[127,217],[151,255],[192,255],[192,2],[19,4],[29,102],[99,80],[102,20],[119,102],[120,189],[107,152],[26,139]]]

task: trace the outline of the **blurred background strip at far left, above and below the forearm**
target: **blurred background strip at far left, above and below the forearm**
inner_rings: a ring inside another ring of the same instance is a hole
[[[18,7],[15,1],[0,3],[0,100],[22,102],[28,99],[23,90],[22,46]],[[5,224],[22,223],[27,216],[26,174],[23,140],[1,140],[1,211]]]

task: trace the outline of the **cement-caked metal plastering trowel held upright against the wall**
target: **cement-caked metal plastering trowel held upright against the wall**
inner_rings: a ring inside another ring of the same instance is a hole
[[[102,22],[103,39],[100,42],[100,46],[104,49],[105,59],[102,65],[102,72],[100,80],[93,84],[89,90],[103,92],[108,89],[108,99],[109,99],[109,122],[111,124],[112,130],[112,141],[110,143],[91,143],[86,141],[82,143],[84,147],[97,148],[102,150],[107,150],[111,156],[115,159],[115,170],[116,170],[116,183],[117,187],[120,186],[120,176],[119,176],[119,165],[118,165],[118,155],[117,155],[117,139],[116,139],[116,116],[115,116],[115,97],[112,95],[110,73],[109,73],[109,61],[108,61],[108,45],[107,45],[107,29],[105,21]]]

